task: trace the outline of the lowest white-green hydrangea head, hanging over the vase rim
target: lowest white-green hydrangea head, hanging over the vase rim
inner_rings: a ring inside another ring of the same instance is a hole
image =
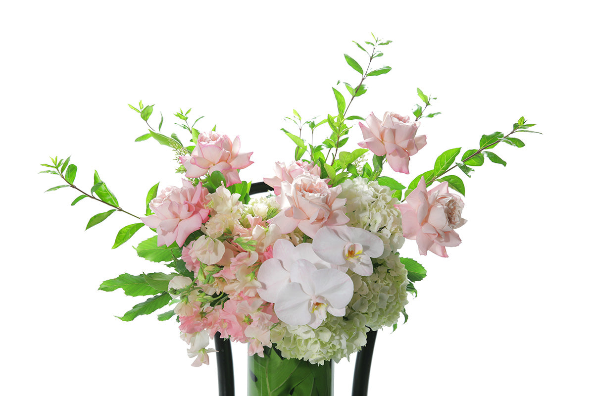
[[[323,365],[339,362],[343,357],[361,350],[367,342],[365,316],[352,312],[345,318],[328,315],[318,328],[290,326],[280,323],[271,330],[271,340],[283,357],[308,360]]]

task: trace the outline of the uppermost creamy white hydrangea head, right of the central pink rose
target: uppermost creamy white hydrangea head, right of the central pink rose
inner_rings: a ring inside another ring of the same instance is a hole
[[[390,188],[361,177],[347,179],[342,183],[339,198],[346,198],[349,226],[369,230],[384,242],[384,253],[380,258],[386,258],[402,248],[405,241],[402,217],[394,207],[400,201],[392,197]]]

